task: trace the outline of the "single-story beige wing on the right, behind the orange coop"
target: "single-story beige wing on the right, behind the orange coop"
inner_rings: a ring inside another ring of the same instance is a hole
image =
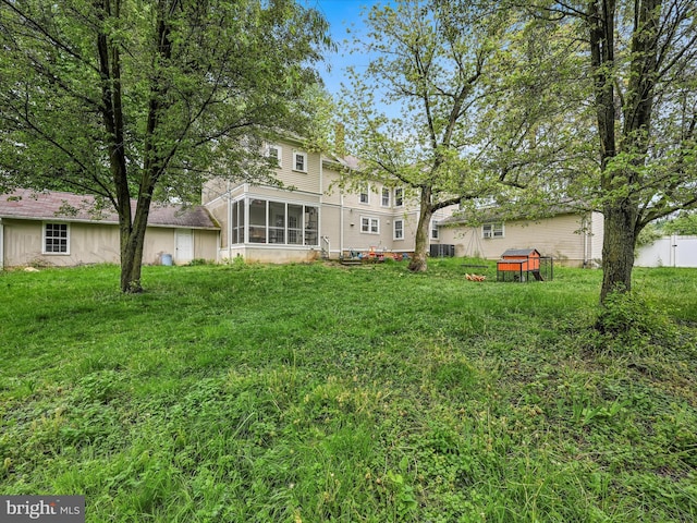
[[[477,224],[453,214],[438,222],[440,242],[453,244],[456,256],[499,259],[509,250],[535,248],[555,264],[598,267],[602,259],[602,214],[559,207],[551,216],[504,220],[485,214]]]

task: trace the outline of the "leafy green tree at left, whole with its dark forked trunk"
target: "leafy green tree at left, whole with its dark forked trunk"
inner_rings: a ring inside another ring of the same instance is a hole
[[[122,291],[140,292],[152,200],[200,202],[212,177],[278,185],[261,141],[308,127],[329,45],[294,0],[2,0],[0,188],[112,206]]]

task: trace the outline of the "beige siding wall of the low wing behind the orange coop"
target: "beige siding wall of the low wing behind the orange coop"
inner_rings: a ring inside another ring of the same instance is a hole
[[[557,263],[583,267],[592,263],[596,245],[602,245],[602,223],[595,216],[584,233],[582,220],[579,215],[564,214],[538,221],[509,221],[503,238],[482,238],[481,226],[450,226],[441,228],[440,243],[455,245],[456,256],[486,259],[498,259],[509,248],[537,248]]]

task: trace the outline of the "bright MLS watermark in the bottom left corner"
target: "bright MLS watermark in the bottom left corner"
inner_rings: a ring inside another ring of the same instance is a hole
[[[84,496],[0,496],[0,522],[85,523]]]

